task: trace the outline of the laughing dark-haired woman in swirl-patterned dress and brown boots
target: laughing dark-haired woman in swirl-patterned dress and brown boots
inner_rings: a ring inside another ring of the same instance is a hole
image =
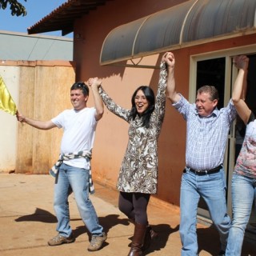
[[[129,123],[128,145],[118,175],[120,191],[118,207],[134,222],[134,237],[128,256],[142,255],[157,236],[148,225],[147,205],[151,194],[157,193],[158,184],[158,136],[162,127],[166,106],[166,64],[162,57],[157,96],[149,86],[139,86],[131,98],[131,110],[118,106],[101,86],[98,91],[107,109]]]

